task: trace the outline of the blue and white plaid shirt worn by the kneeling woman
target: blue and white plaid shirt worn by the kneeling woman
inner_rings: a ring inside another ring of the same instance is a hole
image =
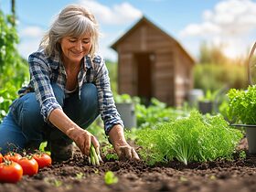
[[[105,133],[108,134],[114,124],[123,125],[120,114],[114,105],[108,70],[101,56],[96,56],[93,59],[85,56],[83,63],[78,74],[79,96],[83,83],[91,82],[96,85],[101,119],[104,122]],[[32,53],[28,58],[28,64],[30,82],[27,87],[19,90],[18,94],[22,96],[27,92],[35,91],[37,101],[40,103],[41,114],[45,122],[48,122],[50,112],[57,108],[62,109],[54,96],[51,83],[57,83],[64,91],[66,71],[59,56],[48,58],[42,50]]]

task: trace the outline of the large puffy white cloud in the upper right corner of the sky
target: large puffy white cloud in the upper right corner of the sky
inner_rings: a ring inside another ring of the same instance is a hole
[[[229,57],[248,51],[255,41],[251,36],[256,31],[256,3],[252,0],[224,0],[213,10],[202,14],[202,22],[185,27],[179,37],[199,37],[215,45],[225,45]]]

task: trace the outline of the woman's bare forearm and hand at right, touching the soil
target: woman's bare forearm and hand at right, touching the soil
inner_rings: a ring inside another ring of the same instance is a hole
[[[130,146],[130,144],[127,144],[124,138],[123,127],[120,124],[116,124],[112,127],[112,130],[109,133],[109,138],[116,154],[121,160],[140,160],[135,149]]]

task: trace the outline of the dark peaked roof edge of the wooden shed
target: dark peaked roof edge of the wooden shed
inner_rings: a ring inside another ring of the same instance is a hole
[[[170,40],[172,40],[173,42],[176,43],[176,45],[181,48],[181,50],[185,53],[185,55],[187,55],[187,58],[190,59],[193,63],[195,63],[195,59],[193,59],[188,53],[187,51],[180,45],[179,42],[176,41],[175,38],[171,37],[169,34],[167,34],[164,30],[162,30],[161,28],[155,26],[155,24],[153,22],[151,22],[148,18],[146,18],[145,16],[142,16],[142,18],[133,25],[133,27],[131,27],[122,37],[120,37],[117,41],[115,41],[111,48],[113,48],[114,50],[117,50],[117,47],[119,44],[121,44],[123,42],[123,40],[128,37],[130,34],[133,33],[133,31],[135,31],[137,28],[141,27],[144,23],[154,27],[156,30],[158,30],[161,34],[163,34],[165,37],[169,38]]]

